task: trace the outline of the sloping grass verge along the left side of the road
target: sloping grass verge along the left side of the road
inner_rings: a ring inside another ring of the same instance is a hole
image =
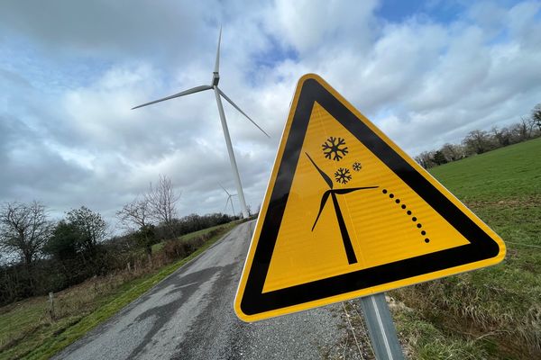
[[[238,223],[234,221],[179,238],[182,241],[218,229],[203,247],[169,265],[91,279],[55,294],[55,321],[50,320],[45,296],[0,308],[0,360],[47,359],[53,356],[160,283],[179,266],[197,257]]]

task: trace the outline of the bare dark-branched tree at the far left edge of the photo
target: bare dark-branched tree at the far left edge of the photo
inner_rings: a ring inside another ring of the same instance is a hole
[[[17,254],[27,268],[41,256],[51,230],[40,202],[7,202],[0,210],[0,248]]]

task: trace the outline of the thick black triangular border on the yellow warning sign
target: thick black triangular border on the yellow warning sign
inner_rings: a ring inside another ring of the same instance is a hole
[[[263,284],[271,264],[272,252],[283,213],[288,202],[289,190],[295,175],[298,157],[307,132],[314,103],[319,103],[335,117],[345,129],[381,159],[409,187],[445,218],[470,244],[453,247],[419,257],[412,257],[382,266],[336,275],[307,284],[262,293]],[[246,315],[259,314],[313,302],[331,296],[351,293],[380,284],[388,284],[417,275],[425,275],[454,266],[496,257],[499,245],[463,211],[402,158],[394,149],[374,133],[361,119],[351,112],[335,95],[308,78],[302,84],[286,147],[271,193],[268,210],[262,223],[260,238],[255,249],[250,273],[246,280],[241,309]]]

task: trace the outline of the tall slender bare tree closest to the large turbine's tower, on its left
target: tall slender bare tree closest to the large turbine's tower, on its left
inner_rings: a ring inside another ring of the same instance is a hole
[[[145,195],[145,200],[151,211],[151,218],[163,222],[171,232],[173,218],[177,215],[176,206],[179,199],[179,191],[173,187],[170,178],[165,175],[160,175],[158,184],[155,186],[151,184],[149,192]]]

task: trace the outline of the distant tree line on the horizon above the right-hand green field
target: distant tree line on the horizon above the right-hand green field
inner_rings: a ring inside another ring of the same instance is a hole
[[[430,168],[539,136],[541,136],[541,103],[532,109],[529,116],[521,117],[520,121],[508,127],[493,127],[489,131],[472,130],[460,144],[446,143],[442,148],[424,151],[414,159],[420,166]]]

